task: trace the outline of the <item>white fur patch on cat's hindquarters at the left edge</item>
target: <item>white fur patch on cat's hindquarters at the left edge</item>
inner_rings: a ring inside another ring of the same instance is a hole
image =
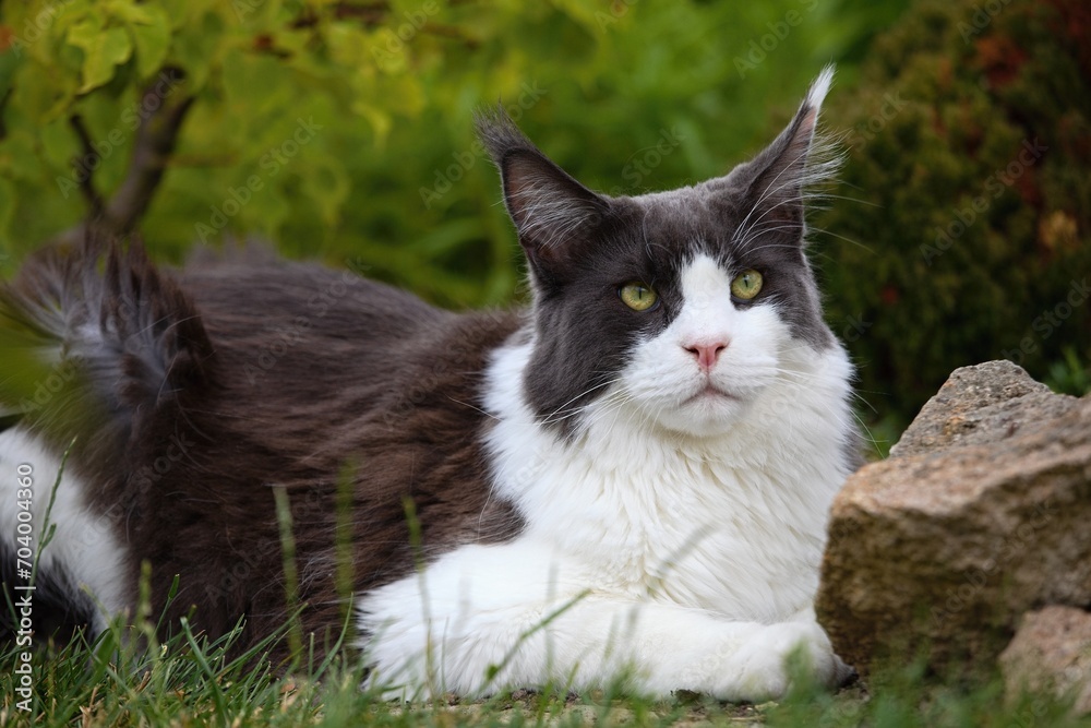
[[[20,508],[16,504],[16,468],[20,464],[33,468],[33,526],[35,553],[39,554],[38,574],[62,570],[72,580],[72,586],[85,588],[96,605],[92,623],[94,633],[106,628],[107,621],[128,605],[132,585],[128,583],[124,564],[125,550],[112,530],[109,518],[96,515],[87,506],[86,486],[65,468],[57,486],[49,524],[57,530],[52,540],[43,549],[46,537],[46,509],[53,493],[60,458],[37,439],[21,428],[0,433],[0,538],[15,552],[16,524]]]

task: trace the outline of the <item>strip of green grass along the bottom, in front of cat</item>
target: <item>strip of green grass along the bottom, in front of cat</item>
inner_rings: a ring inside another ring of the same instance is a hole
[[[403,704],[360,688],[362,669],[350,651],[323,663],[297,658],[285,670],[261,659],[267,645],[228,659],[239,630],[208,641],[182,624],[161,645],[154,631],[144,620],[135,628],[111,626],[93,644],[76,635],[67,645],[39,646],[31,712],[16,709],[10,667],[0,675],[0,726],[1091,726],[1091,719],[1069,717],[1062,701],[1006,701],[998,680],[973,688],[939,684],[925,680],[918,664],[887,666],[870,689],[856,684],[836,694],[801,679],[782,702],[758,706],[688,693],[649,701],[609,691],[504,691],[484,701]],[[142,642],[146,649],[137,646]],[[15,665],[15,653],[4,646],[0,665]]]

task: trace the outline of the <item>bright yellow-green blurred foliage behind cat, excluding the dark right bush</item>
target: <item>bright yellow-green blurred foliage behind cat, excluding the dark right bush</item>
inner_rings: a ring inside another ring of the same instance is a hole
[[[504,303],[519,255],[475,110],[500,99],[603,189],[692,182],[767,143],[830,59],[851,77],[904,0],[873,4],[3,3],[0,275],[88,199],[109,203],[140,122],[169,117],[153,107],[192,99],[136,220],[153,255],[253,234],[441,303]],[[646,164],[664,136],[671,153]]]

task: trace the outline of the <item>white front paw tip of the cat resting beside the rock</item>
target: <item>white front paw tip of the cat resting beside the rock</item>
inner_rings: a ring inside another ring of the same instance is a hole
[[[782,697],[793,670],[802,670],[826,687],[844,683],[851,667],[834,654],[817,622],[770,624],[744,642],[720,676],[717,697],[760,703]]]

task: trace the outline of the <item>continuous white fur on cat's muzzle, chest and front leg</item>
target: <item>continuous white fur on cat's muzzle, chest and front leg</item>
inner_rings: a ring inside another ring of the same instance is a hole
[[[373,681],[415,695],[627,676],[658,695],[764,700],[786,690],[794,648],[819,679],[843,668],[812,599],[848,475],[850,366],[840,347],[793,339],[770,305],[736,309],[732,273],[693,261],[683,310],[635,348],[574,441],[526,405],[532,343],[496,353],[494,491],[526,529],[361,595]],[[719,338],[706,374],[685,346]],[[699,396],[709,384],[730,396]]]

